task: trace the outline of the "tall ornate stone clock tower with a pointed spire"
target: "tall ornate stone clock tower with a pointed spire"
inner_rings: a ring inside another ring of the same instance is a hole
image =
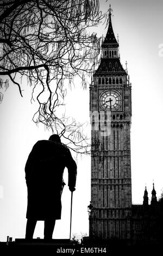
[[[130,240],[131,84],[120,62],[109,9],[101,62],[90,86],[90,238]]]

